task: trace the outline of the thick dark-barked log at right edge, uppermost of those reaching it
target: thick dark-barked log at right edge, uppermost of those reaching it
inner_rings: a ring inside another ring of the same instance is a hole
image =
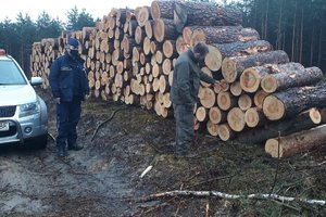
[[[263,103],[263,111],[269,120],[278,120],[314,106],[326,106],[325,82],[314,87],[291,88],[267,95]]]

